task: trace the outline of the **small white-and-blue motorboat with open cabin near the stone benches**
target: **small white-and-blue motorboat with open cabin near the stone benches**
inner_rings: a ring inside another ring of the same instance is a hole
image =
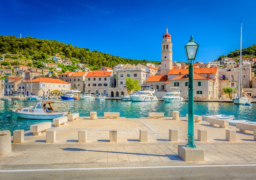
[[[12,113],[25,119],[54,119],[68,115],[68,112],[54,111],[51,103],[54,103],[54,101],[38,102],[34,107],[12,109]]]

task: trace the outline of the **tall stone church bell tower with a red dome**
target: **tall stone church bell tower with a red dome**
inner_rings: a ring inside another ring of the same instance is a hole
[[[161,51],[161,67],[160,75],[167,75],[172,69],[172,41],[171,35],[168,33],[168,25],[166,33],[163,35],[162,51]]]

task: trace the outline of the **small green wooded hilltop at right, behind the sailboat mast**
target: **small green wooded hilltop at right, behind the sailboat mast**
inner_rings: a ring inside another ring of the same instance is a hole
[[[242,58],[251,58],[251,57],[256,57],[256,45],[252,45],[249,47],[245,47],[242,49]],[[240,49],[236,49],[235,51],[231,51],[227,55],[222,55],[218,58],[220,61],[224,57],[229,57],[229,58],[239,58],[240,57]]]

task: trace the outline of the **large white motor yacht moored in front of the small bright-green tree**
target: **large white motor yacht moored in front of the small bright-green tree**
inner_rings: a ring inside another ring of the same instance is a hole
[[[142,90],[137,94],[130,95],[133,101],[158,101],[157,97],[152,95],[155,93],[155,89]]]

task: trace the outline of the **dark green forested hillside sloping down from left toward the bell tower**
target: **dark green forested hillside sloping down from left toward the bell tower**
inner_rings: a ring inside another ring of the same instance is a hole
[[[114,67],[117,64],[154,63],[157,61],[134,60],[120,58],[98,51],[90,51],[88,48],[80,48],[71,44],[61,43],[55,40],[37,39],[32,37],[17,38],[15,36],[0,36],[0,53],[21,54],[31,56],[33,60],[45,60],[56,54],[62,58],[69,58],[75,62],[92,65],[95,68],[101,66]]]

